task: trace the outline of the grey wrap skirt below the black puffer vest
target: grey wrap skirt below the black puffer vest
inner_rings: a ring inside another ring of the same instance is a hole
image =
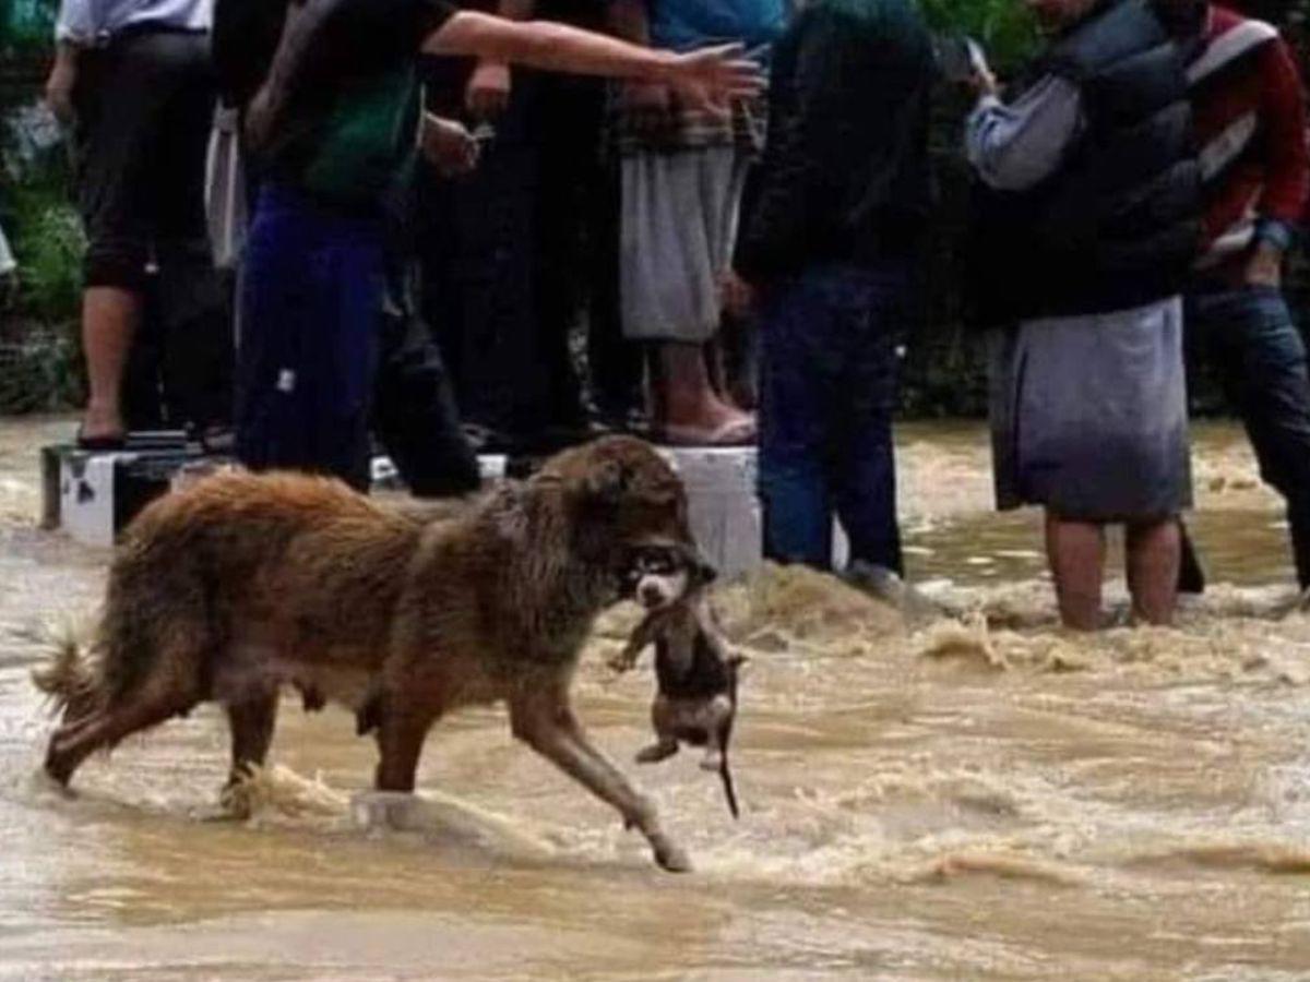
[[[1112,522],[1189,508],[1182,301],[996,333],[992,449],[1002,509]]]

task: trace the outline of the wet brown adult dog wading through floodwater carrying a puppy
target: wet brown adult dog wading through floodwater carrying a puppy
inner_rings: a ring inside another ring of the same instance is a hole
[[[631,550],[652,543],[693,547],[686,495],[629,437],[561,453],[427,521],[329,479],[208,478],[128,528],[90,657],[38,674],[64,706],[46,771],[67,783],[93,752],[215,700],[238,780],[263,762],[290,683],[307,704],[328,698],[375,721],[377,788],[413,791],[443,714],[504,700],[516,737],[684,869],[652,804],[588,742],[569,700],[592,621],[618,600]]]

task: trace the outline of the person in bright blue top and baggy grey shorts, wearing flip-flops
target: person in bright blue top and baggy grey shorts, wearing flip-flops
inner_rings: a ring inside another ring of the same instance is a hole
[[[624,37],[679,51],[766,46],[783,20],[783,0],[614,0]],[[648,82],[630,85],[624,103],[620,297],[625,334],[652,343],[654,433],[673,444],[751,443],[755,420],[714,390],[706,346],[761,149],[760,107],[741,101],[731,119],[715,119]]]

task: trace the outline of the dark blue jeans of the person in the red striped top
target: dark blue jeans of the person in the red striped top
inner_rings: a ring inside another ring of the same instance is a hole
[[[1306,347],[1282,293],[1272,287],[1193,289],[1187,330],[1218,367],[1242,415],[1260,475],[1288,501],[1292,550],[1310,587],[1310,376]]]

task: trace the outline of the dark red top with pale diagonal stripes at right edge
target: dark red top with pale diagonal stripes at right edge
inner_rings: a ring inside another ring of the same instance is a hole
[[[1210,7],[1187,69],[1201,166],[1197,267],[1241,266],[1258,240],[1285,249],[1310,192],[1305,102],[1277,30]]]

